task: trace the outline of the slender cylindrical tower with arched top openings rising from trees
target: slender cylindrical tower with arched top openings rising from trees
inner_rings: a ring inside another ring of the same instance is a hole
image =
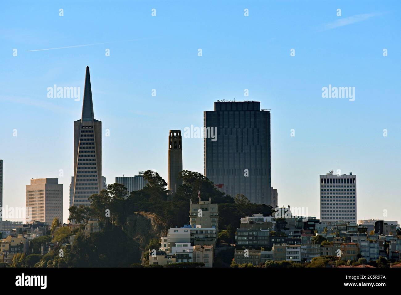
[[[168,133],[168,189],[175,193],[182,185],[178,173],[182,171],[181,130],[170,130]]]

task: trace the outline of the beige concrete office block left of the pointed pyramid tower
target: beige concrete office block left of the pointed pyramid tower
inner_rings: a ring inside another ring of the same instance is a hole
[[[35,221],[51,224],[56,217],[63,221],[63,184],[58,178],[31,179],[26,185],[26,223]]]

